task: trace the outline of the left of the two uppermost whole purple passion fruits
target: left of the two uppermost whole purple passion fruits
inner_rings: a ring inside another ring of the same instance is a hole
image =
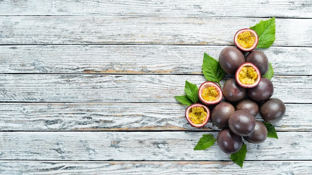
[[[228,74],[234,75],[237,68],[245,62],[243,53],[233,46],[222,49],[219,55],[219,64]]]

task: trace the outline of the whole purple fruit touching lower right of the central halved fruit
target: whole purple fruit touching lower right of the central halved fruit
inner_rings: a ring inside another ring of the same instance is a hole
[[[262,77],[258,86],[247,89],[247,96],[257,102],[269,99],[274,92],[271,80]]]

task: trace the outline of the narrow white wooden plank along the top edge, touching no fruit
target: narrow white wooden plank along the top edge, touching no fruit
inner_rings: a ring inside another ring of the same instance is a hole
[[[1,0],[0,6],[0,15],[312,17],[309,0]]]

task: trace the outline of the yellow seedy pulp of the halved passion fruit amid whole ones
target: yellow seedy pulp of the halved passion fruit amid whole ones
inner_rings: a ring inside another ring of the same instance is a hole
[[[239,81],[244,85],[253,85],[257,77],[256,70],[251,66],[244,66],[238,75]]]

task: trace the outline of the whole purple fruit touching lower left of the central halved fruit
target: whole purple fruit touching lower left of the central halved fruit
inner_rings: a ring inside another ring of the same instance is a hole
[[[223,85],[223,96],[230,102],[236,102],[243,99],[246,95],[246,88],[237,84],[234,78],[225,81]]]

